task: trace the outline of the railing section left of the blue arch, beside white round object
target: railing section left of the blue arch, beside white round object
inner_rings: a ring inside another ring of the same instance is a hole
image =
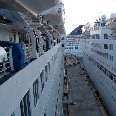
[[[3,58],[3,61],[0,62],[0,78],[14,71],[12,46],[4,47],[4,49],[7,53],[7,58]]]

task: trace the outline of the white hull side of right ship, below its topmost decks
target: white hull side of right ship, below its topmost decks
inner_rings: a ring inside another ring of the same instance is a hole
[[[98,43],[98,48],[92,47],[92,43]],[[93,39],[82,39],[79,42],[79,50],[83,53],[83,60],[85,70],[89,74],[90,80],[95,86],[98,94],[108,110],[111,116],[115,116],[116,113],[116,59],[109,61],[106,56],[101,57],[97,53],[92,52],[92,49],[97,49],[102,53],[112,54],[113,51],[104,50],[104,43],[113,44],[113,50],[115,50],[113,40],[93,40]],[[114,53],[115,56],[115,53]],[[108,56],[109,57],[109,56]],[[110,59],[112,60],[112,59]],[[113,67],[113,68],[112,68]],[[111,77],[110,77],[111,75]],[[113,79],[112,79],[113,76]]]

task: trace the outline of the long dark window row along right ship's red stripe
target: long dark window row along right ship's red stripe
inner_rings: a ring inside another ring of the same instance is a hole
[[[112,81],[114,81],[116,83],[116,76],[113,75],[112,73],[110,73],[106,68],[104,68],[102,65],[100,65],[99,63],[97,63],[96,61],[94,61],[91,57],[89,57],[89,61],[91,61],[92,63],[96,64],[97,67],[104,72],[104,74],[106,74]]]

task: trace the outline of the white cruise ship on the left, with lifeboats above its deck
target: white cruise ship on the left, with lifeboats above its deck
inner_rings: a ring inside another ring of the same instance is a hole
[[[0,0],[0,116],[62,116],[61,0]]]

